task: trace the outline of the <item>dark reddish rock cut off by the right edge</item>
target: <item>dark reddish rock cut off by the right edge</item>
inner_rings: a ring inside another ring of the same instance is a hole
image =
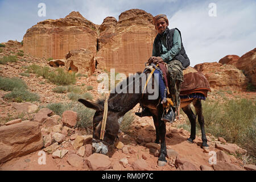
[[[241,69],[251,84],[256,86],[256,48],[242,55],[237,61],[236,67]]]

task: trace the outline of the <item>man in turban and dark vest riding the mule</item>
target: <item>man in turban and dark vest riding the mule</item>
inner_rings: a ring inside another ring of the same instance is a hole
[[[162,121],[174,122],[175,112],[180,105],[179,94],[181,83],[183,82],[182,71],[189,66],[190,61],[185,53],[180,31],[177,28],[172,28],[171,30],[168,28],[167,16],[164,14],[156,15],[152,23],[158,31],[158,35],[154,40],[152,56],[148,59],[148,63],[168,65],[170,97],[173,106],[170,106],[168,112],[163,115]],[[163,81],[159,81],[159,89],[163,89],[164,86],[160,86],[163,85]],[[163,92],[160,90],[160,93]],[[135,114],[139,117],[152,115],[147,107],[142,107],[142,112]]]

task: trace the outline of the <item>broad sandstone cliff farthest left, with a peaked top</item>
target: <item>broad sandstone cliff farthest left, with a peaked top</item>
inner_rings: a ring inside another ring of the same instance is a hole
[[[23,37],[24,52],[35,57],[63,59],[72,49],[96,52],[97,25],[72,11],[65,18],[46,19],[29,28]]]

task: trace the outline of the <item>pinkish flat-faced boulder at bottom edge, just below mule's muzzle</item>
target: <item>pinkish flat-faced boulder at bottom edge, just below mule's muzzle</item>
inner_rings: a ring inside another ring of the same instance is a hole
[[[86,164],[93,171],[103,171],[112,168],[109,156],[94,153],[85,159]]]

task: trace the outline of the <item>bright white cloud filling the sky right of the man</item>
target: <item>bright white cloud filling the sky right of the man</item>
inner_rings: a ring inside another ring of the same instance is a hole
[[[210,1],[187,6],[170,19],[169,28],[181,31],[191,65],[242,56],[255,47],[255,2],[214,1],[217,16],[210,17]]]

